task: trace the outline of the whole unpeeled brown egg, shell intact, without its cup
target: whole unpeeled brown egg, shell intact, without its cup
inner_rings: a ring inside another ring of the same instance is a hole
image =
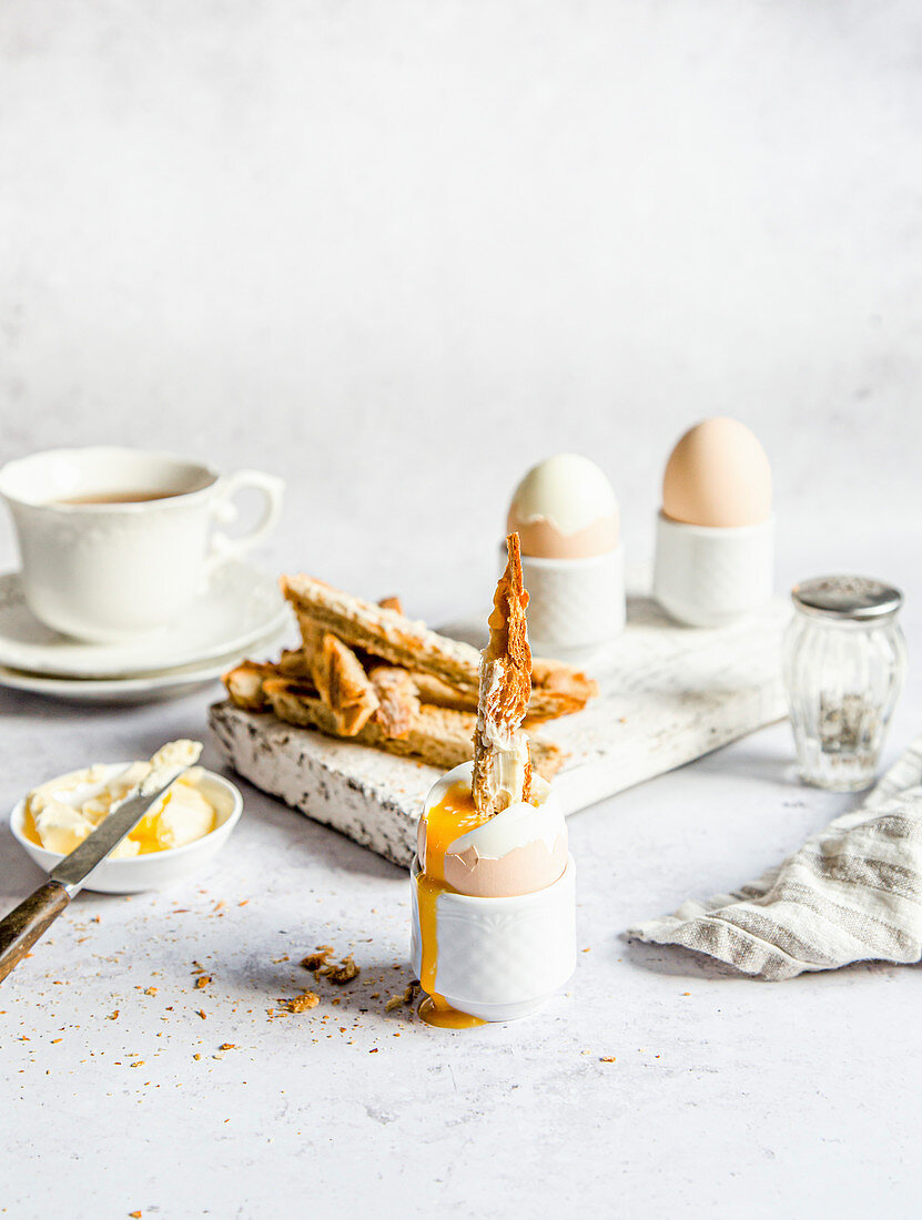
[[[772,514],[772,467],[739,420],[717,416],[689,428],[663,475],[663,514],[690,526],[755,526]]]

